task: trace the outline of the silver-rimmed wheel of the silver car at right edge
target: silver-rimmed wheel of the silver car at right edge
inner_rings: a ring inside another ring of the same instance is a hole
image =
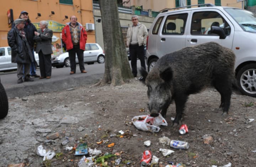
[[[256,63],[242,67],[236,79],[242,94],[256,97]]]

